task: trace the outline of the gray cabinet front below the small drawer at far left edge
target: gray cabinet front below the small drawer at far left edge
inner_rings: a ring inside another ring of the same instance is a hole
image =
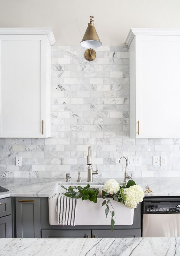
[[[11,215],[0,218],[0,238],[12,238]]]

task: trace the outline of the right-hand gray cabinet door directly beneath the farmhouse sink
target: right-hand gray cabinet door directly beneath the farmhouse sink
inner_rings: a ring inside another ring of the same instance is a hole
[[[92,230],[92,238],[141,237],[140,229]]]

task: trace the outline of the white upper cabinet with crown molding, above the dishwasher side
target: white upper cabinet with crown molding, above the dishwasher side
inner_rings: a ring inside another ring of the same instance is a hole
[[[130,137],[180,137],[180,29],[131,29]]]

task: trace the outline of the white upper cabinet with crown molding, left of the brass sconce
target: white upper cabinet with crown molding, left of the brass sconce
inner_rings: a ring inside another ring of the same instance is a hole
[[[0,137],[50,137],[51,28],[0,28]]]

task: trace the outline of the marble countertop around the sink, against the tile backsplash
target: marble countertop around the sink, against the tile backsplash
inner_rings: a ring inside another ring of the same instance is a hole
[[[101,185],[108,179],[94,179],[92,185]],[[145,196],[180,196],[180,178],[134,178],[136,184],[140,185],[143,190],[146,185],[152,189],[153,193],[146,193]],[[122,180],[118,180],[122,182]],[[9,189],[8,192],[1,192],[0,198],[9,196],[33,196],[49,197],[56,183],[63,185],[86,185],[88,182],[82,179],[77,182],[71,179],[71,182],[65,182],[64,179],[57,178],[0,178],[0,186]]]

